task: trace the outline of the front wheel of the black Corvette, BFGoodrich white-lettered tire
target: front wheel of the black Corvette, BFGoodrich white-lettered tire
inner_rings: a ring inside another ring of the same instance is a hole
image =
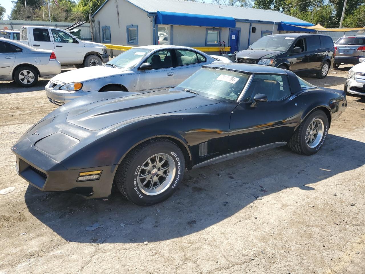
[[[157,138],[132,149],[115,174],[119,191],[131,202],[148,206],[165,201],[184,176],[185,160],[172,141]]]

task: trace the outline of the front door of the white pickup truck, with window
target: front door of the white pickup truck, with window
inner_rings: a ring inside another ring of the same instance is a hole
[[[81,64],[82,45],[65,31],[51,28],[51,33],[57,58],[63,60],[63,64]]]

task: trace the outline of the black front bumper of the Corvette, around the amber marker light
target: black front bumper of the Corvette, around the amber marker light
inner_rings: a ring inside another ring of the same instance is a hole
[[[38,151],[25,137],[11,148],[16,155],[16,170],[20,177],[42,191],[64,191],[86,198],[105,198],[111,187],[117,165],[68,170],[57,161]],[[77,182],[80,172],[102,170],[99,180]]]

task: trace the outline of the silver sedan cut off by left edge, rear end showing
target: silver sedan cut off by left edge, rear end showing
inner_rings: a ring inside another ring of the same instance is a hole
[[[38,76],[60,72],[61,64],[53,51],[0,38],[0,81],[14,80],[22,87],[32,87],[37,84]]]

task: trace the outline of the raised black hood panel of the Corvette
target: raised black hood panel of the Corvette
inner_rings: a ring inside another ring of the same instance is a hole
[[[69,111],[66,121],[88,130],[100,130],[115,124],[129,123],[146,117],[219,102],[219,100],[173,89],[137,93],[75,107]]]

